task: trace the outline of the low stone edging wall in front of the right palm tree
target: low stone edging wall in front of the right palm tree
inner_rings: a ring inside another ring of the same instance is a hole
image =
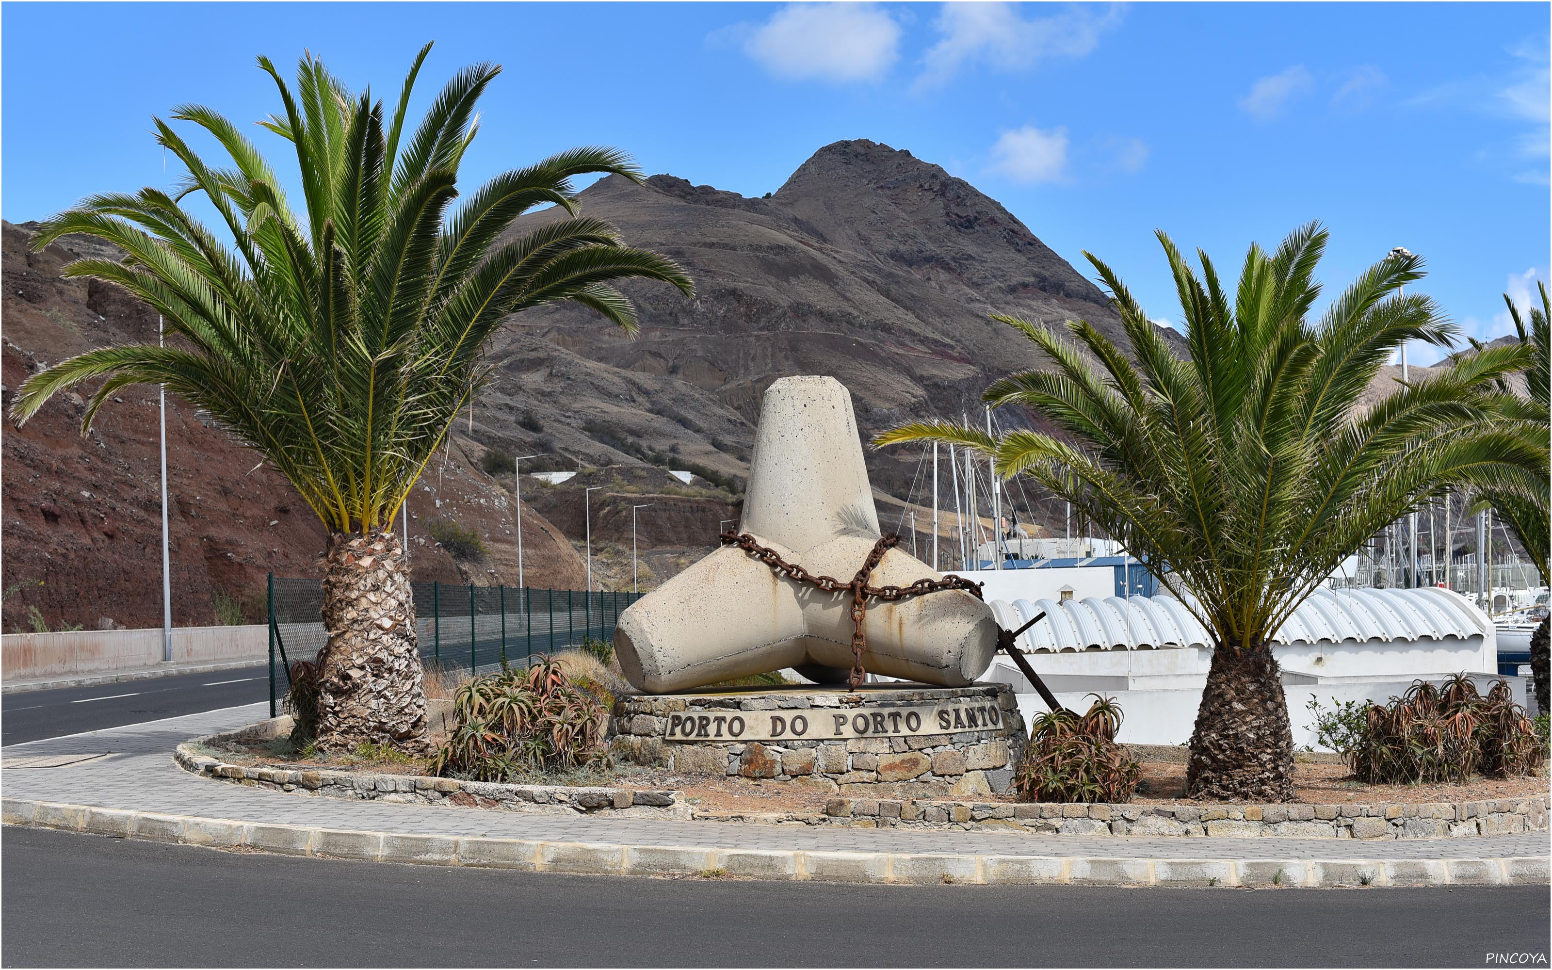
[[[1035,835],[1456,838],[1543,830],[1547,827],[1547,799],[1378,805],[1088,805],[832,798],[823,819],[815,823]]]

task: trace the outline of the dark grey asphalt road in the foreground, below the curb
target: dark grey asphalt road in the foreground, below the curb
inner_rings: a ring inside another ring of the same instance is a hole
[[[1546,886],[840,886],[233,855],[5,829],[0,964],[1546,965]],[[1501,961],[1507,962],[1507,961]]]

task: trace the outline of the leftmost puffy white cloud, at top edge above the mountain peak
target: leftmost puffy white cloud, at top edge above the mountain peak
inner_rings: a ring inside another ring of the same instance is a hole
[[[790,3],[765,23],[736,29],[743,53],[795,81],[877,81],[900,47],[900,25],[872,3]]]

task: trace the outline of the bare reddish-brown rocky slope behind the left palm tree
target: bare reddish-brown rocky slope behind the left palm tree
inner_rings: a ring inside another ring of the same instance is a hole
[[[155,341],[157,317],[113,286],[62,279],[59,270],[96,244],[67,239],[42,253],[29,227],[3,227],[3,391],[50,362],[95,346]],[[161,624],[161,503],[155,388],[129,388],[81,436],[78,394],[48,404],[17,428],[5,421],[5,632]],[[473,459],[483,449],[455,436],[410,500],[417,580],[517,582],[506,487]],[[323,526],[290,487],[210,417],[168,399],[172,615],[177,625],[262,615],[264,576],[317,576]],[[506,483],[509,486],[509,483]],[[481,537],[486,553],[455,560],[430,535],[433,520]],[[525,571],[535,585],[582,588],[582,557],[553,525],[525,509]],[[36,610],[36,613],[34,613]]]

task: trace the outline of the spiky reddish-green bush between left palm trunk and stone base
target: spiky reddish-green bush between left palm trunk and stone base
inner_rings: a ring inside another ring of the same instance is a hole
[[[607,759],[602,698],[551,658],[526,670],[476,677],[453,695],[453,729],[431,773],[509,781],[531,771],[568,771]]]

